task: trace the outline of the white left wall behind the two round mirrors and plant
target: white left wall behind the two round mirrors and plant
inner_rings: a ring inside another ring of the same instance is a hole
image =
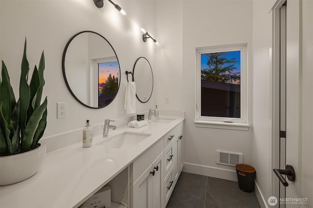
[[[131,71],[138,57],[147,57],[155,72],[155,44],[142,41],[141,27],[154,34],[153,1],[118,1],[127,13],[121,15],[112,4],[98,9],[92,0],[1,0],[0,59],[4,60],[14,92],[18,86],[24,38],[27,37],[27,58],[31,72],[45,50],[45,87],[48,97],[47,128],[44,138],[81,129],[85,120],[103,123],[106,118],[127,116],[124,111],[125,71]],[[70,37],[83,31],[95,31],[112,44],[120,62],[121,85],[112,103],[102,109],[89,109],[70,95],[62,75],[62,54]],[[30,73],[31,73],[30,72]],[[56,102],[67,103],[67,118],[56,119]],[[146,104],[137,101],[137,112],[147,111],[156,103],[156,94]],[[77,134],[80,137],[80,133]],[[76,138],[79,141],[81,138]],[[62,138],[64,141],[69,138]]]

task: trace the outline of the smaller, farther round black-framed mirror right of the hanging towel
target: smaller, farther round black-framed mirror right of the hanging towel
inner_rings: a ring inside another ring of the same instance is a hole
[[[136,83],[136,97],[146,103],[150,100],[153,91],[153,72],[147,58],[137,58],[133,69],[134,81]]]

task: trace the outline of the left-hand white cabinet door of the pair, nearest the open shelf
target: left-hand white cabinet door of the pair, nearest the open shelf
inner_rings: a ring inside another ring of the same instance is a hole
[[[132,185],[133,208],[152,208],[152,165]]]

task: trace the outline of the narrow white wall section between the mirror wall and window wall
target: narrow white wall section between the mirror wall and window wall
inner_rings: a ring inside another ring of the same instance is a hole
[[[182,82],[183,1],[156,0],[156,91],[160,109],[184,110]],[[169,103],[165,103],[168,97]],[[189,99],[188,99],[189,101]]]

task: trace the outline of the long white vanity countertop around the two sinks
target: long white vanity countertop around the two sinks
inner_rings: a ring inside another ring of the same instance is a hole
[[[180,116],[171,123],[152,123],[141,128],[127,126],[109,130],[109,137],[93,137],[93,146],[82,142],[46,154],[40,170],[17,184],[0,187],[1,208],[71,208],[78,207],[92,194],[129,166],[173,127],[184,120]],[[152,134],[130,149],[113,149],[96,145],[121,132]],[[64,138],[66,139],[66,138]]]

